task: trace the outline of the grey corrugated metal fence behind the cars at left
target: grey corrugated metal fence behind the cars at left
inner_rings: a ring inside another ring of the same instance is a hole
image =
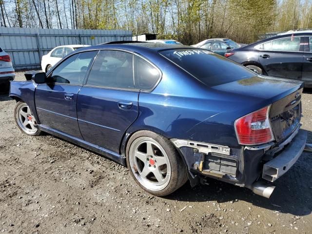
[[[59,45],[115,40],[132,40],[132,31],[0,27],[0,47],[10,55],[15,69],[39,68],[41,57]]]

